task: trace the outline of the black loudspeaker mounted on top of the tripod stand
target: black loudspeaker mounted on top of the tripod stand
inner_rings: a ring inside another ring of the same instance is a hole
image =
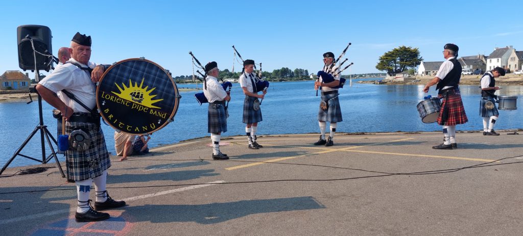
[[[53,60],[51,29],[47,26],[23,25],[18,26],[16,31],[18,37],[18,65],[20,66],[20,69],[24,71],[34,71],[36,68],[37,70],[45,70],[49,72]],[[31,39],[35,45],[36,53],[33,52]],[[51,57],[41,55],[38,52],[51,55]]]

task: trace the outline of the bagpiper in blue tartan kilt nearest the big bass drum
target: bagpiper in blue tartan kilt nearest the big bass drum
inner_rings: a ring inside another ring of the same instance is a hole
[[[212,141],[212,159],[229,160],[227,154],[220,152],[220,138],[222,132],[227,132],[227,114],[225,111],[225,101],[231,100],[229,92],[225,92],[222,85],[218,83],[218,64],[209,62],[205,65],[207,77],[203,87],[203,94],[209,101],[207,113],[207,130],[211,133]]]

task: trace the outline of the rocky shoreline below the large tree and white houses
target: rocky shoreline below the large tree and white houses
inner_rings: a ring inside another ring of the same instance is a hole
[[[479,85],[480,78],[482,75],[462,75],[460,84],[463,85]],[[422,77],[406,77],[404,81],[394,80],[367,80],[358,81],[359,84],[384,84],[384,85],[406,85],[406,84],[420,84],[425,85],[434,77],[422,76]],[[381,82],[380,82],[381,81]],[[523,75],[506,74],[496,78],[496,86],[498,85],[523,85]]]

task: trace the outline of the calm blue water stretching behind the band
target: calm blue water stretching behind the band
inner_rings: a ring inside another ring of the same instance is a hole
[[[340,91],[344,121],[338,123],[340,132],[394,132],[394,131],[435,131],[441,127],[436,123],[421,121],[416,105],[426,95],[423,85],[345,85]],[[228,129],[222,136],[245,134],[242,123],[243,98],[240,84],[233,84],[232,100],[229,103]],[[180,84],[179,87],[195,87],[195,84]],[[201,84],[198,85],[201,88]],[[434,89],[435,86],[431,87]],[[469,122],[459,125],[458,130],[481,130],[479,117],[479,94],[477,85],[463,85],[461,94]],[[502,86],[498,95],[520,96],[523,86]],[[201,92],[201,91],[200,91]],[[501,92],[501,93],[500,93]],[[183,92],[174,122],[155,132],[150,145],[177,143],[181,140],[208,136],[207,106],[198,105],[194,94]],[[258,134],[319,133],[316,119],[319,97],[315,96],[313,82],[274,82],[270,84],[266,99],[261,104],[264,120],[258,125]],[[434,90],[429,93],[436,95]],[[521,103],[521,102],[519,102]],[[521,105],[520,105],[521,106]],[[500,110],[496,129],[517,129],[523,127],[521,107],[518,110]],[[56,138],[56,121],[51,115],[52,107],[43,102],[44,124]],[[38,125],[38,103],[0,103],[0,167],[16,152],[18,147]],[[115,153],[113,129],[103,125],[109,152]],[[311,140],[313,142],[315,140]],[[46,144],[47,146],[47,144]],[[26,145],[22,154],[41,159],[40,133]],[[47,154],[50,152],[47,148]],[[64,160],[59,155],[60,160]],[[9,167],[38,164],[22,156],[17,156]]]

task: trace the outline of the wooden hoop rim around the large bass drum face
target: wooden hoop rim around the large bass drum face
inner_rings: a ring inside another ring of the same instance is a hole
[[[158,130],[161,130],[163,127],[165,127],[168,123],[171,122],[170,120],[173,119],[174,115],[176,115],[176,112],[178,111],[178,106],[179,106],[179,103],[180,103],[180,98],[181,98],[181,96],[180,96],[179,91],[178,91],[178,86],[176,86],[176,83],[174,82],[173,77],[172,77],[172,76],[167,72],[167,70],[165,70],[161,65],[158,65],[157,63],[155,63],[155,62],[153,62],[153,61],[151,61],[151,60],[147,60],[147,59],[145,59],[145,58],[129,58],[129,59],[121,60],[121,61],[119,61],[119,62],[115,62],[115,63],[113,63],[111,66],[109,66],[109,68],[107,68],[107,70],[104,71],[104,74],[101,75],[101,78],[100,78],[100,80],[98,81],[97,86],[96,86],[96,108],[98,109],[98,113],[100,114],[101,118],[102,118],[104,121],[106,121],[106,120],[105,120],[105,117],[104,117],[104,115],[103,115],[103,113],[102,113],[102,111],[100,110],[100,104],[99,104],[99,102],[98,102],[98,91],[99,91],[99,89],[100,89],[100,86],[98,86],[98,85],[101,84],[101,82],[104,80],[105,75],[106,75],[106,74],[107,74],[107,73],[108,73],[112,68],[114,68],[114,67],[115,67],[116,65],[118,65],[118,64],[121,64],[121,63],[123,63],[123,62],[128,62],[128,61],[146,61],[146,62],[149,62],[149,63],[152,63],[152,64],[158,66],[158,68],[160,68],[160,69],[161,69],[161,70],[162,70],[162,71],[163,71],[163,72],[168,76],[170,82],[173,84],[173,86],[174,86],[174,88],[175,88],[175,99],[176,99],[176,102],[175,102],[175,104],[174,104],[174,109],[173,109],[172,113],[170,113],[170,115],[169,115],[169,119],[167,119],[167,120],[168,120],[167,122],[163,123],[163,125],[161,125],[160,127],[158,127],[156,130],[151,131],[151,132],[148,132],[148,133],[151,133],[151,134],[152,134],[152,133],[154,133],[154,132],[156,132],[156,131],[158,131]],[[127,134],[132,134],[132,135],[137,135],[137,134],[135,134],[135,133],[128,133],[128,132],[126,132],[126,131],[120,130],[119,128],[113,126],[113,125],[111,124],[111,122],[107,122],[107,121],[106,121],[106,123],[107,123],[110,127],[112,127],[113,129],[115,129],[115,130],[119,130],[120,132],[124,132],[124,133],[127,133]],[[143,134],[146,134],[146,133],[143,133]]]

